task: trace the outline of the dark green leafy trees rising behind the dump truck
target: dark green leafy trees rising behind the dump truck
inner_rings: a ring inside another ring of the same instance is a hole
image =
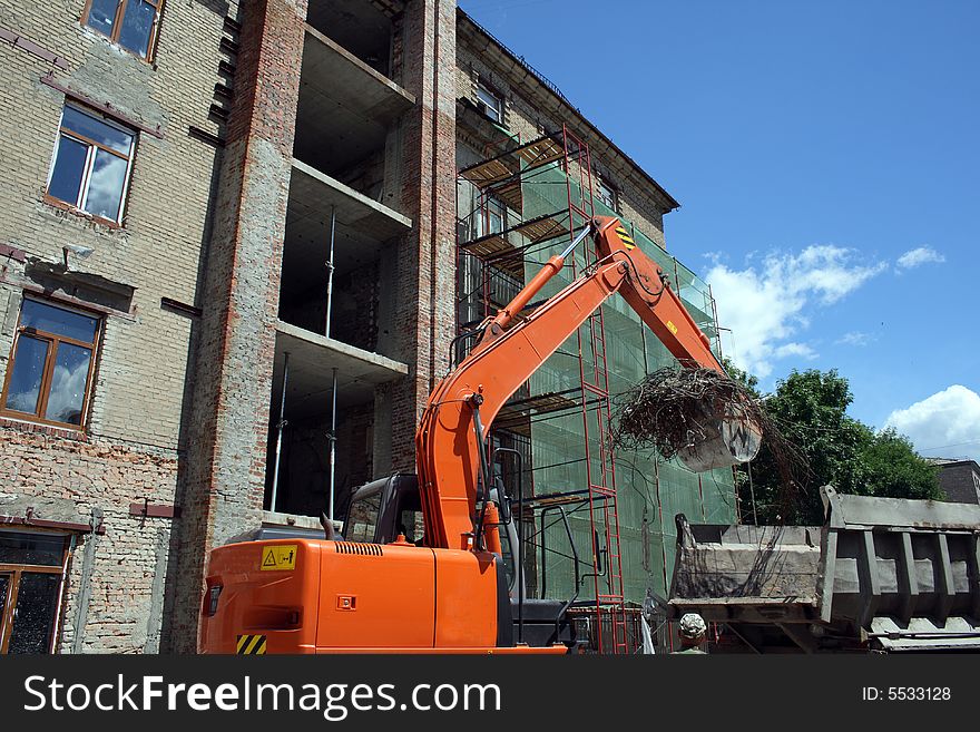
[[[794,370],[776,384],[775,393],[765,399],[766,412],[805,457],[808,472],[797,474],[795,484],[787,486],[764,443],[752,461],[751,481],[747,469],[738,471],[744,520],[753,520],[753,492],[759,524],[803,525],[823,523],[820,487],[825,485],[864,496],[941,496],[934,469],[911,442],[893,430],[875,435],[850,417],[852,401],[851,387],[836,370]]]

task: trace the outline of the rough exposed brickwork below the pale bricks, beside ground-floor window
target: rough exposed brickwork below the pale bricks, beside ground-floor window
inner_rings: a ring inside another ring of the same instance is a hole
[[[84,652],[141,652],[148,629],[159,615],[150,614],[150,589],[157,570],[157,533],[169,533],[169,519],[129,515],[129,504],[148,499],[170,504],[177,476],[173,450],[125,447],[102,439],[58,436],[17,426],[0,428],[0,513],[87,524],[92,508],[104,513],[104,536],[95,537],[91,602],[81,645]],[[91,536],[81,535],[80,557]],[[72,562],[65,586],[65,632],[59,647],[74,641],[82,563]]]

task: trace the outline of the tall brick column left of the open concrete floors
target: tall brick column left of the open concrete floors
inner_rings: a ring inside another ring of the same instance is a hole
[[[195,650],[207,554],[258,526],[306,0],[243,3],[161,650]]]

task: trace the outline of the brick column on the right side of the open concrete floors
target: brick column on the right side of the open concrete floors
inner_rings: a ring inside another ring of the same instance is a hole
[[[455,2],[412,0],[401,22],[400,78],[418,105],[401,128],[401,209],[414,226],[398,248],[394,345],[410,364],[391,391],[392,467],[414,470],[418,418],[455,318]]]

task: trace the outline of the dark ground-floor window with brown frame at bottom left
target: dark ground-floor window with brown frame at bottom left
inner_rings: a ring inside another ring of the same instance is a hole
[[[60,534],[0,531],[0,655],[53,650],[65,549]]]

